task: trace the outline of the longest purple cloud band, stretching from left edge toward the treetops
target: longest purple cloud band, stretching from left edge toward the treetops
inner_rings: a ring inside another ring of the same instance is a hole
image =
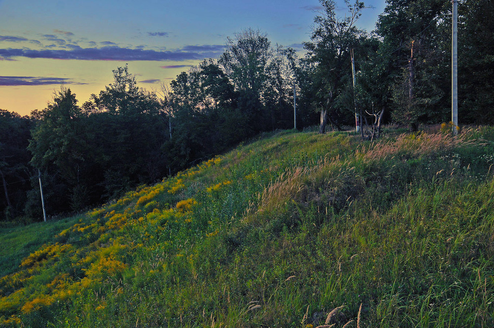
[[[47,58],[47,59],[74,59],[74,60],[116,60],[116,61],[182,61],[200,60],[204,58],[217,58],[223,53],[223,45],[187,45],[181,49],[157,51],[120,46],[103,46],[82,48],[79,45],[70,45],[66,49],[27,48],[0,48],[0,58],[12,57]]]

